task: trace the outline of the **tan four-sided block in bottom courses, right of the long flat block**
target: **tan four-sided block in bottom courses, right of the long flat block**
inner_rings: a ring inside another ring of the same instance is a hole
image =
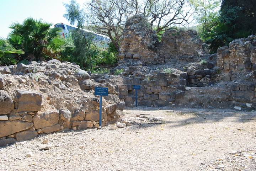
[[[58,124],[58,120],[59,111],[36,114],[33,117],[34,127],[36,129],[46,128]]]

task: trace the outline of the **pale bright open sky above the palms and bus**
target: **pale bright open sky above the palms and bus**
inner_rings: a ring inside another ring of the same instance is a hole
[[[25,18],[42,18],[44,21],[56,24],[68,20],[63,17],[63,3],[70,0],[0,0],[0,37],[6,38],[11,29],[9,26],[17,21],[22,23]],[[76,0],[81,6],[88,0]]]

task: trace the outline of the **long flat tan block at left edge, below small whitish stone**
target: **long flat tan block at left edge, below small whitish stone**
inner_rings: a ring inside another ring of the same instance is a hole
[[[33,126],[32,122],[22,122],[22,121],[0,121],[0,137],[5,137],[7,135],[26,130]]]

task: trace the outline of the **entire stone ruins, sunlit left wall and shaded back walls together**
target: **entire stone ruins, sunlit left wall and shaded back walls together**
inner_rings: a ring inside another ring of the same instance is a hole
[[[256,108],[255,35],[210,55],[195,31],[169,29],[159,41],[146,19],[135,15],[126,23],[119,52],[118,66],[108,75],[55,59],[0,67],[0,146],[42,133],[97,128],[95,86],[108,87],[103,126],[134,106],[133,85],[141,86],[140,106]],[[116,69],[124,72],[114,75]]]

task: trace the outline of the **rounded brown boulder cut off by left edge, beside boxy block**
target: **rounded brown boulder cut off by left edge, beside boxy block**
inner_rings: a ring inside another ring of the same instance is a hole
[[[11,97],[4,90],[0,90],[0,114],[9,113],[13,108]]]

